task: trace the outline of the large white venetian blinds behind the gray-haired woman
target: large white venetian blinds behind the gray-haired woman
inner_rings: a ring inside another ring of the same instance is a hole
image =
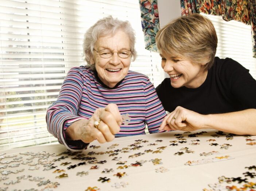
[[[0,150],[56,142],[46,109],[67,71],[85,65],[85,31],[108,15],[131,22],[138,57],[130,69],[158,85],[160,58],[144,49],[138,0],[1,0]]]

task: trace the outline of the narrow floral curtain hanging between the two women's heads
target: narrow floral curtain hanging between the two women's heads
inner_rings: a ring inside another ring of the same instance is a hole
[[[155,36],[160,29],[157,0],[140,0],[140,12],[145,48],[156,52]]]

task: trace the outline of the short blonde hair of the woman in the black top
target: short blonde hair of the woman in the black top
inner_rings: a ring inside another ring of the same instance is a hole
[[[194,13],[172,20],[156,34],[160,52],[182,56],[209,70],[216,54],[218,38],[212,22]]]

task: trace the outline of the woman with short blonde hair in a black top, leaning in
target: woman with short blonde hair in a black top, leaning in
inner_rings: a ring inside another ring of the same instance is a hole
[[[217,35],[209,19],[179,17],[157,33],[156,44],[170,76],[156,88],[170,112],[159,130],[256,135],[256,81],[238,62],[215,57]]]

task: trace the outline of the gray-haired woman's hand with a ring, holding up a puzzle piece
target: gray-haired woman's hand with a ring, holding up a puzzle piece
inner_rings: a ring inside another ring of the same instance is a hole
[[[99,122],[97,128],[95,122]],[[99,143],[105,143],[115,138],[122,122],[117,105],[110,103],[105,108],[97,109],[90,119],[81,119],[72,123],[65,132],[72,140],[90,143],[97,139]]]

